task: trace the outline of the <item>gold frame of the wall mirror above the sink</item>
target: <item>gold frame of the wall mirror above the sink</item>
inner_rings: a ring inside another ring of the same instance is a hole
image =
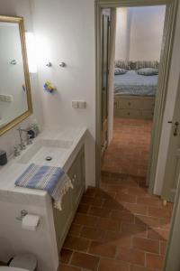
[[[27,51],[26,51],[26,44],[25,44],[25,30],[24,30],[23,17],[0,15],[0,22],[19,24],[19,32],[20,32],[20,40],[21,40],[21,45],[22,45],[22,56],[23,56],[23,72],[24,72],[24,80],[25,80],[25,87],[26,87],[27,104],[28,104],[27,111],[25,111],[22,115],[15,117],[8,124],[4,125],[4,127],[0,128],[0,135],[3,135],[5,132],[9,131],[14,126],[21,123],[25,118],[30,117],[31,114],[33,113],[33,109],[32,109],[32,100],[31,100],[30,73],[29,73],[29,68],[28,68]]]

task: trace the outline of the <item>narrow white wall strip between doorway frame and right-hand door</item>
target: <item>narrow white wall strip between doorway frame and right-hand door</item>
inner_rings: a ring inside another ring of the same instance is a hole
[[[155,182],[155,193],[160,194],[163,186],[164,173],[166,168],[166,155],[169,143],[171,125],[167,122],[172,120],[175,107],[175,97],[180,76],[180,3],[178,7],[177,22],[175,29],[175,43],[173,48],[171,70],[169,74],[169,83],[166,97],[166,108],[163,121],[161,142],[157,161],[157,175]]]

